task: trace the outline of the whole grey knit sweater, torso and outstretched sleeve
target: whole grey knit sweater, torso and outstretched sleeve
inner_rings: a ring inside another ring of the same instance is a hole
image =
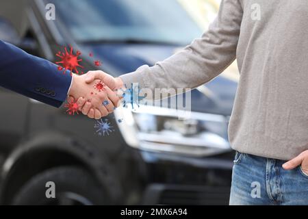
[[[208,31],[155,66],[121,76],[141,88],[196,88],[237,58],[233,149],[291,159],[308,149],[308,1],[222,0]]]

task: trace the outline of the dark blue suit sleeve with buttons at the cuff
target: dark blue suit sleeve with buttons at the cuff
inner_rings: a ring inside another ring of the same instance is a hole
[[[60,107],[71,80],[70,73],[63,74],[56,64],[0,40],[0,86]]]

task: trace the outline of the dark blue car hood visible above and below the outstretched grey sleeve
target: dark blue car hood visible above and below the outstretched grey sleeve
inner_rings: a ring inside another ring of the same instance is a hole
[[[86,60],[94,63],[100,60],[101,68],[114,76],[130,73],[146,64],[153,66],[181,47],[166,44],[87,44],[80,47],[83,53],[92,54]],[[99,68],[97,66],[92,66]],[[231,115],[237,81],[222,75],[192,90],[192,111],[211,114]]]

